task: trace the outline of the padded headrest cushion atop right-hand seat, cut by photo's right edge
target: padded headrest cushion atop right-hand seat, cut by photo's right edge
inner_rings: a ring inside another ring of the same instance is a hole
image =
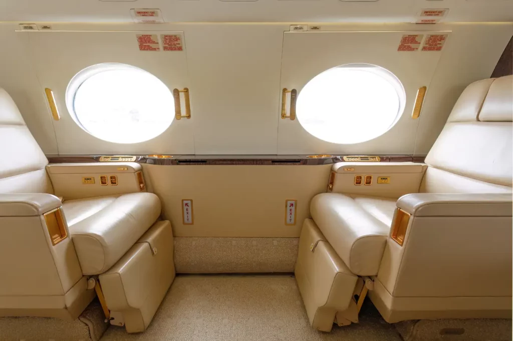
[[[478,119],[481,122],[513,121],[513,76],[500,77],[491,83]]]

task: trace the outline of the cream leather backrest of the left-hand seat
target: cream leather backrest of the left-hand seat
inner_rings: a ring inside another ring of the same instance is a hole
[[[11,96],[0,88],[0,193],[53,194],[48,160]]]

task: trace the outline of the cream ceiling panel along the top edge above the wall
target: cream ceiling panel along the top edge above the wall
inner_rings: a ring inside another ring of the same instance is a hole
[[[423,8],[449,8],[446,22],[513,20],[512,0],[379,0],[375,2],[220,0],[2,0],[0,22],[132,22],[131,8],[159,8],[172,22],[408,23]],[[27,10],[30,9],[30,10]]]

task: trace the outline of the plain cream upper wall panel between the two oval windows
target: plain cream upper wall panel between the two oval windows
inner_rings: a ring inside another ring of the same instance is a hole
[[[286,25],[186,30],[196,154],[277,154]]]

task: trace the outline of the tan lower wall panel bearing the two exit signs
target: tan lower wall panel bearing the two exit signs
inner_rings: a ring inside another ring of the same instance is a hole
[[[310,200],[326,192],[331,165],[143,164],[175,237],[298,238]],[[182,200],[193,201],[183,224]],[[295,225],[285,225],[285,200],[297,200]]]

